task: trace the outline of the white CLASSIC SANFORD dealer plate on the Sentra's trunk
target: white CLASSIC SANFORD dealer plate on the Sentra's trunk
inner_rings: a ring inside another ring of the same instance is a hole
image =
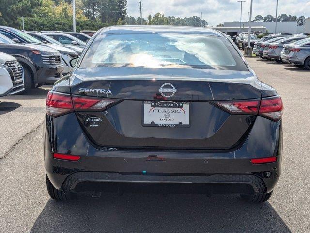
[[[189,127],[190,103],[174,101],[144,101],[142,126]]]

